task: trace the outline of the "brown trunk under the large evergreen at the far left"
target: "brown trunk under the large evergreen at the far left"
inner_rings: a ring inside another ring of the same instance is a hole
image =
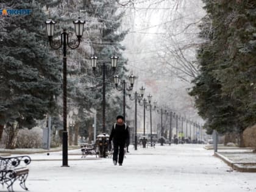
[[[18,125],[9,124],[7,126],[7,139],[5,143],[5,149],[15,149],[17,136],[19,133]]]

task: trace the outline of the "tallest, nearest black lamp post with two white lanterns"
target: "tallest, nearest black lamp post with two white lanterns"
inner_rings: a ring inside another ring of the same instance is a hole
[[[84,32],[85,21],[78,18],[78,20],[73,21],[74,28],[76,32],[77,40],[71,43],[71,38],[69,39],[69,33],[66,29],[60,34],[60,41],[55,41],[54,37],[54,26],[55,21],[47,20],[44,22],[46,24],[46,34],[48,36],[49,44],[52,49],[60,49],[63,47],[63,135],[62,135],[62,166],[68,166],[68,132],[67,132],[67,116],[66,116],[66,50],[67,48],[76,49],[80,45],[81,38]],[[74,43],[73,43],[74,42]]]

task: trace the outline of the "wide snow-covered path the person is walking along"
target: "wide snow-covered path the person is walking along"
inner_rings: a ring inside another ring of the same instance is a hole
[[[79,150],[69,158],[80,159]],[[130,149],[123,166],[114,166],[112,159],[69,160],[62,168],[60,152],[30,155],[27,187],[30,192],[131,192],[131,191],[256,191],[255,173],[232,171],[213,151],[202,145],[184,144],[156,146],[155,149]],[[59,159],[59,160],[57,160]],[[88,158],[89,159],[89,158]],[[0,188],[0,191],[7,191]],[[23,191],[18,184],[15,191]]]

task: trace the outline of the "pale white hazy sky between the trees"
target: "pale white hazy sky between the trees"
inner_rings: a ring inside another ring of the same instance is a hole
[[[191,87],[191,84],[172,76],[168,65],[160,65],[157,54],[157,52],[161,53],[160,50],[165,49],[165,44],[169,43],[167,39],[165,40],[166,36],[161,34],[176,32],[182,34],[184,27],[199,21],[205,15],[202,2],[201,0],[193,2],[179,0],[177,8],[177,4],[174,5],[177,1],[163,1],[160,4],[151,5],[148,10],[145,9],[153,2],[155,1],[150,0],[135,4],[136,9],[127,10],[126,19],[124,19],[123,29],[130,29],[132,32],[124,40],[126,46],[124,55],[129,59],[127,67],[139,77],[133,90],[138,90],[141,85],[144,85],[146,94],[151,93],[153,100],[157,100],[159,105],[168,105],[179,115],[203,123],[193,107],[193,98],[187,94],[186,89]],[[172,7],[174,9],[168,9]],[[186,42],[193,43],[191,35],[193,38],[197,37],[193,33],[199,32],[199,29],[196,29],[196,25],[191,26],[188,27],[188,31],[192,34],[176,37],[180,46]],[[195,52],[191,49],[191,54],[186,57],[189,60],[195,60]]]

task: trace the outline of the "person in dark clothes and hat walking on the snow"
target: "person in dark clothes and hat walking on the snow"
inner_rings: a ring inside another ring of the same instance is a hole
[[[112,140],[114,145],[113,163],[117,165],[118,162],[121,166],[124,160],[124,148],[129,140],[129,127],[124,123],[124,117],[121,115],[116,117],[116,123],[112,126],[109,137],[110,145]]]

